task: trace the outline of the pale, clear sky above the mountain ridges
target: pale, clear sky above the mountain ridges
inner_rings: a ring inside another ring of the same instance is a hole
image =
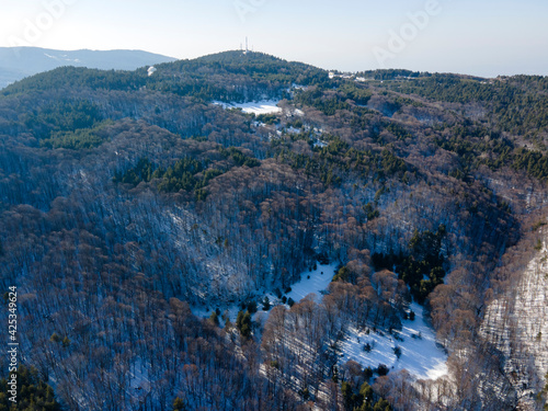
[[[326,69],[548,75],[546,0],[0,0],[0,46],[194,58],[248,36],[255,50]]]

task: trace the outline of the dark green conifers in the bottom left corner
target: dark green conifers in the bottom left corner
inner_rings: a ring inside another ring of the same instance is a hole
[[[20,366],[18,372],[18,403],[13,406],[8,390],[8,379],[0,380],[0,410],[59,411],[54,389],[38,376],[36,368]]]

